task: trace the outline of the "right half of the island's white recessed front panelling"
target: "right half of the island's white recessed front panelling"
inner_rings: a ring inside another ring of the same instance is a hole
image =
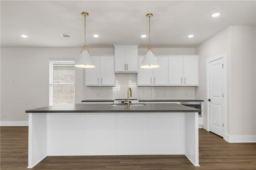
[[[117,154],[185,154],[184,113],[119,113]]]

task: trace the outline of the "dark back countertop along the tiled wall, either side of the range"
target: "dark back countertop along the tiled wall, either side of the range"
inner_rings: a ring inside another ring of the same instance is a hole
[[[81,102],[114,102],[115,99],[86,99],[82,100]],[[143,102],[143,101],[203,101],[203,100],[198,100],[198,99],[138,99],[138,101]]]

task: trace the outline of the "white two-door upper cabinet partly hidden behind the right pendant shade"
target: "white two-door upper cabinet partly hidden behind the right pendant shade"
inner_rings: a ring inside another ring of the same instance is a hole
[[[166,86],[168,85],[168,58],[157,57],[160,67],[142,69],[140,64],[143,57],[138,58],[138,86]]]

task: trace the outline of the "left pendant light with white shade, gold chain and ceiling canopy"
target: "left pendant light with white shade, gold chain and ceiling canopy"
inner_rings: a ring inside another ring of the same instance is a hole
[[[90,57],[90,53],[88,50],[88,47],[86,47],[86,16],[89,14],[87,12],[82,12],[82,15],[84,16],[84,47],[81,50],[79,58],[75,62],[75,67],[80,68],[94,68],[95,65],[92,61],[92,58]]]

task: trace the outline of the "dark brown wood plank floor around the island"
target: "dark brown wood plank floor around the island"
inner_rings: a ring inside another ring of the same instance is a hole
[[[26,170],[28,127],[1,127],[1,170]],[[228,143],[199,129],[199,164],[184,155],[48,156],[33,170],[256,170],[256,143]]]

